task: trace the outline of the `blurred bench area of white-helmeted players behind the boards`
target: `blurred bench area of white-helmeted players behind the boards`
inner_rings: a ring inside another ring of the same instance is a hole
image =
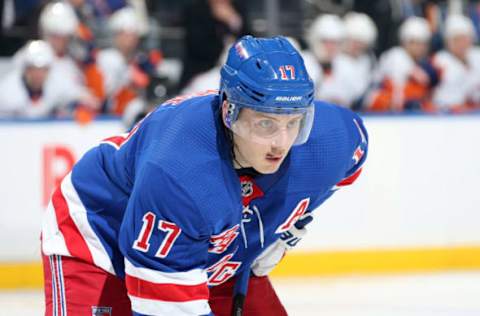
[[[218,89],[236,38],[288,36],[316,98],[364,112],[480,109],[479,1],[2,0],[0,118],[126,125]]]

